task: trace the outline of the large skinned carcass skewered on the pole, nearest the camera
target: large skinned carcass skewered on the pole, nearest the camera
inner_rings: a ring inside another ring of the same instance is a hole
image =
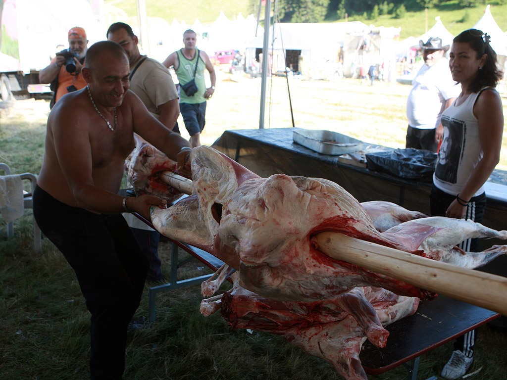
[[[356,286],[433,296],[312,246],[312,235],[334,231],[412,251],[384,238],[357,200],[334,182],[284,174],[261,178],[206,146],[192,151],[192,179],[196,194],[153,210],[153,224],[163,235],[207,250],[239,270],[240,285],[250,291],[298,301],[335,297]]]

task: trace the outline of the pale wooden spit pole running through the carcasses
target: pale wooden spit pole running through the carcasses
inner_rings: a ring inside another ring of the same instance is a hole
[[[192,194],[192,180],[169,171],[160,177],[180,192]],[[323,254],[337,260],[507,316],[505,277],[457,267],[336,232],[322,232],[313,239]]]

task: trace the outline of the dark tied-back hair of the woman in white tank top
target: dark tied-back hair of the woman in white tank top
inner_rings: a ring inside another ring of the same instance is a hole
[[[496,66],[496,53],[489,45],[489,35],[479,29],[468,29],[454,37],[453,42],[467,43],[476,52],[477,59],[484,54],[488,55],[483,68],[477,72],[474,82],[469,90],[479,92],[484,87],[496,87],[498,81],[502,78],[502,72]]]

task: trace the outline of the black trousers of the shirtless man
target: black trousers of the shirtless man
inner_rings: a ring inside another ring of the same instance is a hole
[[[70,207],[37,186],[33,215],[76,272],[91,313],[91,378],[121,379],[127,326],[139,306],[148,260],[121,214]]]

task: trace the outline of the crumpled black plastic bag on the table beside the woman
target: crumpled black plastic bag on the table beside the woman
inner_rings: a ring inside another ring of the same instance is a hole
[[[437,154],[422,149],[394,149],[366,155],[367,168],[405,179],[431,182]]]

